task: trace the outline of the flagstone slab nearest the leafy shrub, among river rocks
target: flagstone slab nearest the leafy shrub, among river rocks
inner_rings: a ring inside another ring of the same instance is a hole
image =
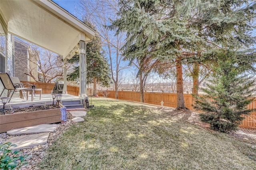
[[[49,133],[40,133],[40,134],[28,134],[23,136],[16,136],[10,138],[6,142],[11,142],[12,144],[16,144],[17,146],[12,146],[10,149],[22,149],[33,146],[38,146],[40,144],[46,144]]]

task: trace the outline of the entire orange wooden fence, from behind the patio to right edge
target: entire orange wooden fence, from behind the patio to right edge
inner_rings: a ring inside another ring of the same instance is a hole
[[[41,82],[29,82],[22,81],[22,83],[31,83],[36,85],[36,88],[42,89],[42,94],[50,94],[55,83],[41,83]],[[87,89],[87,94],[91,94],[91,89]],[[38,91],[36,91],[38,93]],[[79,87],[67,85],[67,93],[70,95],[78,96],[79,95]],[[114,90],[98,90],[99,96],[115,98]],[[140,93],[136,91],[118,91],[118,99],[128,100],[128,101],[136,101],[140,102]],[[161,101],[164,102],[164,106],[166,107],[177,107],[177,95],[176,93],[152,93],[145,92],[144,93],[144,103],[153,104],[153,105],[161,105]],[[184,94],[185,106],[191,111],[196,111],[192,107],[193,97],[192,95]],[[256,108],[256,100],[248,105],[248,109]],[[242,121],[240,127],[246,128],[256,128],[256,112],[252,112],[249,116],[244,116],[246,119]]]

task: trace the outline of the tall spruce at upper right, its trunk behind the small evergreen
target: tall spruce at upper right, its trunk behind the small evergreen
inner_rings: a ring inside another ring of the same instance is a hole
[[[196,1],[194,1],[195,3]],[[200,65],[213,63],[215,59],[204,56],[204,53],[216,48],[226,47],[242,49],[241,53],[248,55],[248,49],[255,44],[255,36],[251,30],[255,28],[252,23],[256,16],[255,0],[202,0],[198,1],[196,10],[192,11],[192,17],[188,22],[190,29],[195,30],[206,43],[200,43],[200,51],[196,51],[193,64],[193,93],[197,94]],[[253,53],[255,51],[251,50]],[[247,65],[252,65],[253,60],[246,60],[239,55]]]

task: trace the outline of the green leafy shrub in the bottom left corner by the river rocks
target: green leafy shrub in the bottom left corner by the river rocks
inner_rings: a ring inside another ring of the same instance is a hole
[[[10,150],[11,146],[17,146],[11,142],[0,144],[0,170],[19,170],[20,167],[27,165],[25,158],[28,156],[22,156],[22,151],[19,150]],[[10,156],[10,153],[13,156]]]

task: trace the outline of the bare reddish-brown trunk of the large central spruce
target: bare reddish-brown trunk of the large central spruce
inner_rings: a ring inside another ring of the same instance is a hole
[[[182,77],[182,65],[181,57],[176,59],[176,79],[177,79],[177,110],[186,109],[184,96],[183,96],[183,77]]]

